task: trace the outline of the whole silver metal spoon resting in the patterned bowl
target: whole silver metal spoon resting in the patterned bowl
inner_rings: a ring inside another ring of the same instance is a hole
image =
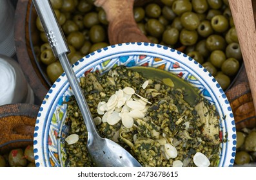
[[[112,140],[101,138],[97,133],[90,109],[79,86],[74,70],[68,61],[66,53],[70,50],[68,49],[63,31],[61,31],[57,22],[50,1],[33,0],[33,3],[43,24],[48,41],[52,46],[52,51],[55,57],[59,58],[68,82],[74,91],[75,99],[77,100],[88,131],[88,152],[92,156],[95,165],[97,167],[141,167],[139,162],[129,152],[123,149],[123,147]]]

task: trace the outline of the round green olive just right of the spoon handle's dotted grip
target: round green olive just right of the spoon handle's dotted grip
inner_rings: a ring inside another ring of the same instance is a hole
[[[70,33],[66,40],[75,49],[80,49],[84,44],[84,35],[80,31],[75,31]]]

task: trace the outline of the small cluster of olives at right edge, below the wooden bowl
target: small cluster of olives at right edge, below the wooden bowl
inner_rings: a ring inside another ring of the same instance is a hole
[[[237,131],[235,165],[256,163],[256,129]]]

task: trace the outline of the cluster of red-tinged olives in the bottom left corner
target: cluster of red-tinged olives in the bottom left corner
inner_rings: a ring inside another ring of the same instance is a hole
[[[0,167],[35,167],[34,149],[32,145],[12,149],[0,154]]]

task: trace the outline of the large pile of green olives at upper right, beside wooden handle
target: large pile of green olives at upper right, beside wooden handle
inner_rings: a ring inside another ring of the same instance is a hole
[[[202,64],[226,90],[242,64],[228,1],[161,0],[134,8],[141,31],[157,44],[179,49]]]

